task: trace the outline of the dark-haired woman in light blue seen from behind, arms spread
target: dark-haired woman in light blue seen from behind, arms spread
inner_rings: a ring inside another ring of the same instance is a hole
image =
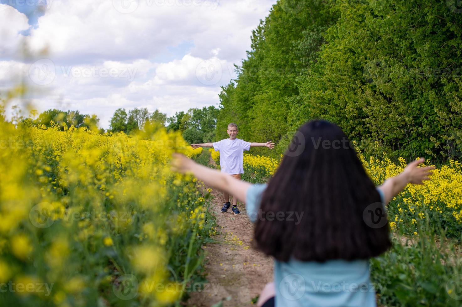
[[[252,185],[175,154],[174,169],[234,191],[255,224],[255,247],[274,257],[258,306],[376,306],[369,261],[391,246],[385,204],[433,167],[409,163],[375,187],[345,133],[324,120],[298,129],[267,184]]]

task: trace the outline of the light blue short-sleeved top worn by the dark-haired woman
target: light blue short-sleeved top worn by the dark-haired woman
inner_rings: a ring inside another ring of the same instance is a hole
[[[255,184],[247,190],[246,210],[252,222],[257,220],[261,195],[266,187],[266,184]],[[377,191],[383,202],[383,192]],[[297,220],[296,216],[293,218]],[[276,307],[377,306],[368,260],[324,263],[274,260],[274,286]]]

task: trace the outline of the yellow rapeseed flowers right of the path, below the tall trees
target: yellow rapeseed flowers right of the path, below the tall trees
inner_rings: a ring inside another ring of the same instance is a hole
[[[210,149],[213,160],[219,163],[219,151]],[[393,163],[386,155],[379,159],[366,159],[358,151],[366,172],[377,185],[387,178],[398,175],[407,166],[404,158]],[[280,161],[270,158],[244,154],[243,166],[245,172],[259,176],[260,180],[274,175]],[[425,163],[429,165],[428,162]],[[257,180],[258,181],[258,180]],[[417,221],[428,217],[431,221],[442,223],[457,235],[462,225],[462,165],[458,161],[450,161],[448,165],[435,169],[432,180],[424,185],[409,184],[388,205],[389,220],[392,229],[405,230],[408,234],[416,234]],[[431,222],[430,221],[430,222]]]

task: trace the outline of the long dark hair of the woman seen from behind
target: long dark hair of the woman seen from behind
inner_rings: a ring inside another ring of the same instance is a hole
[[[388,222],[372,228],[363,219],[368,205],[381,202],[380,195],[340,127],[310,121],[290,146],[260,209],[297,212],[301,220],[258,219],[256,247],[280,261],[368,259],[385,252],[391,246]]]

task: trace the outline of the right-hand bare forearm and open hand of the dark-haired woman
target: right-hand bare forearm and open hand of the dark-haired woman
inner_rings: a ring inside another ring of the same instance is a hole
[[[398,195],[408,183],[423,184],[424,180],[430,180],[430,177],[428,176],[432,175],[432,169],[435,169],[435,167],[417,167],[424,161],[425,159],[421,158],[420,160],[415,160],[407,164],[407,167],[401,172],[401,174],[387,179],[383,185],[378,187],[383,192],[386,204]]]

